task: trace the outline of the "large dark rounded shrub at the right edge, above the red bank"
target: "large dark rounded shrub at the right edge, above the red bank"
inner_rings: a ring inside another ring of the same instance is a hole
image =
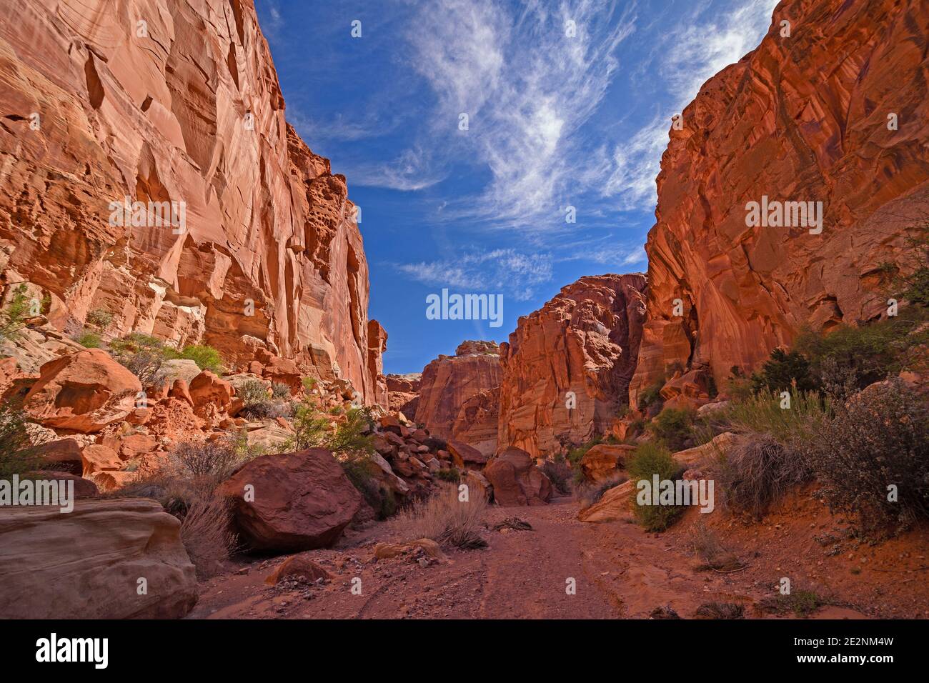
[[[870,387],[835,410],[805,450],[833,511],[883,534],[929,517],[929,409],[899,381]],[[889,486],[896,500],[888,500]]]

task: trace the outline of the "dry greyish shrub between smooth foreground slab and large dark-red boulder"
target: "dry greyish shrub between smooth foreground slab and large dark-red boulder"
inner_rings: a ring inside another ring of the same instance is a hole
[[[219,496],[197,498],[190,503],[180,525],[180,540],[187,550],[199,579],[208,579],[222,570],[222,561],[238,546],[230,531],[229,502]]]

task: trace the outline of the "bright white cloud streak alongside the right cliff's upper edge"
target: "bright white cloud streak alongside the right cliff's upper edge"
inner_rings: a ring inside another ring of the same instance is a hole
[[[709,19],[706,5],[694,7],[665,33],[655,54],[658,63],[641,70],[643,79],[657,72],[669,92],[670,106],[629,140],[615,146],[613,169],[602,188],[619,209],[650,208],[657,196],[655,177],[661,170],[661,153],[668,144],[671,117],[683,111],[700,86],[713,74],[739,61],[765,36],[779,0],[736,0],[728,13]]]

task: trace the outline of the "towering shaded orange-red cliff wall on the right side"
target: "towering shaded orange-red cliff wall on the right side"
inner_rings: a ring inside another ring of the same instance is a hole
[[[661,158],[634,400],[669,364],[722,387],[805,323],[884,312],[879,264],[929,208],[927,24],[919,0],[782,2],[761,45],[703,85]],[[749,227],[763,197],[822,202],[821,233]]]

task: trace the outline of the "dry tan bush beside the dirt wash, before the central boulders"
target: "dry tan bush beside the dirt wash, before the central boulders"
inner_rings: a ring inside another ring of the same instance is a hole
[[[400,528],[408,529],[412,538],[431,538],[463,550],[487,547],[480,535],[486,513],[483,495],[472,495],[462,502],[456,487],[442,484],[436,493],[414,501],[400,513]]]

